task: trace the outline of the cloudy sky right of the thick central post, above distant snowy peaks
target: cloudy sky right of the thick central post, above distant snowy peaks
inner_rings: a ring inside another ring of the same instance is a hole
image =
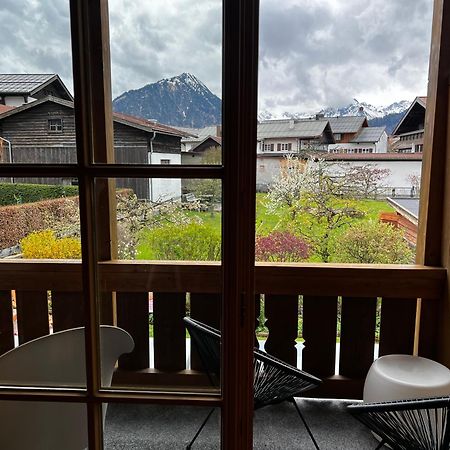
[[[427,0],[263,0],[260,108],[313,111],[354,97],[386,104],[423,95],[430,29]]]

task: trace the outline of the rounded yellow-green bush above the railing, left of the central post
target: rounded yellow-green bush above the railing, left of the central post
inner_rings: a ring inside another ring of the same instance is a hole
[[[168,224],[144,230],[139,239],[138,259],[218,261],[220,234],[205,224]]]

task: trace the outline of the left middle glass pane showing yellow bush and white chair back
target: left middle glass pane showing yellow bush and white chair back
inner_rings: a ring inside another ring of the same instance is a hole
[[[5,181],[0,263],[10,275],[0,286],[0,383],[84,386],[83,330],[64,331],[84,325],[78,186]]]

